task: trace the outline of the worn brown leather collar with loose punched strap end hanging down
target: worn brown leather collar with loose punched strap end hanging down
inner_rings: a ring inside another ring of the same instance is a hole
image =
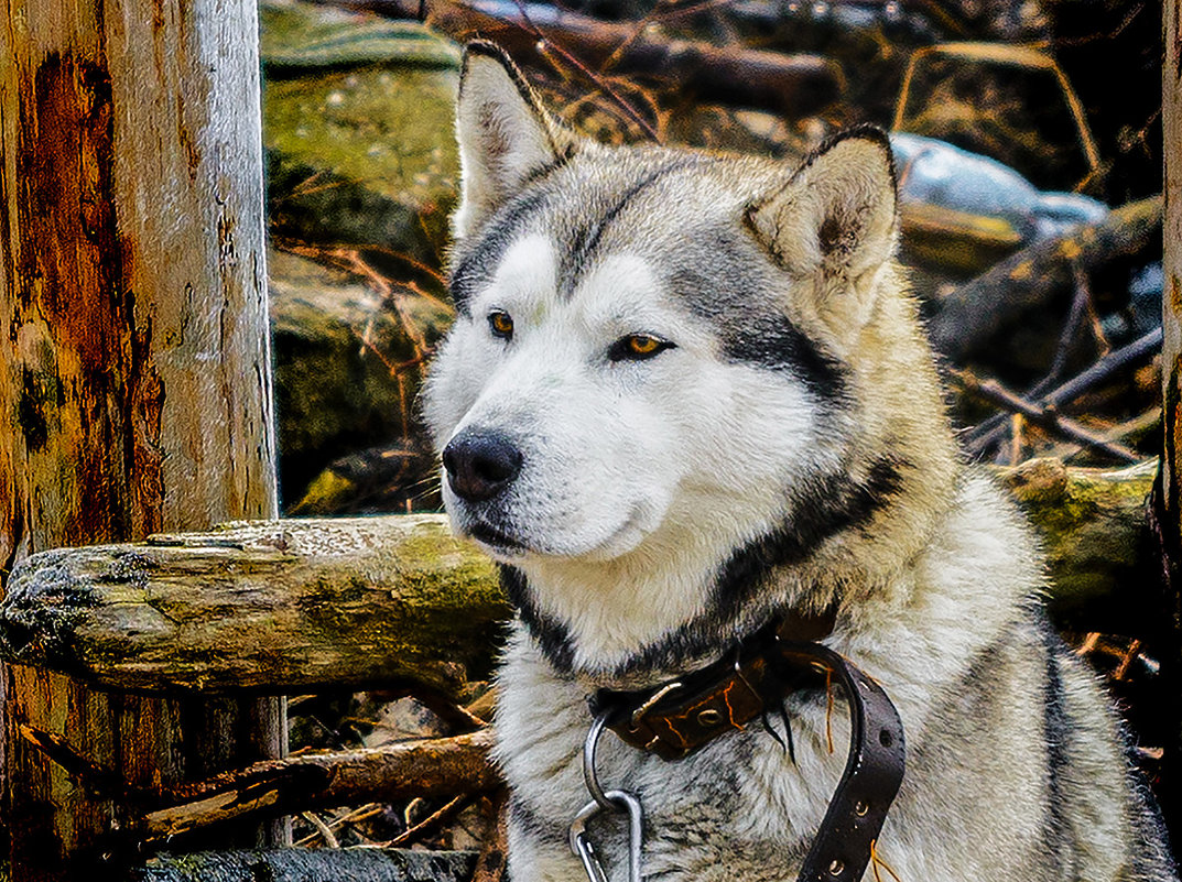
[[[769,626],[730,656],[655,690],[600,691],[592,699],[592,711],[606,714],[608,726],[628,744],[663,759],[681,759],[769,708],[782,713],[784,698],[794,690],[839,685],[850,711],[850,752],[797,882],[860,880],[903,782],[898,712],[849,659],[814,642],[832,632],[833,618],[827,615],[827,627],[806,620]],[[791,744],[791,730],[788,738]]]

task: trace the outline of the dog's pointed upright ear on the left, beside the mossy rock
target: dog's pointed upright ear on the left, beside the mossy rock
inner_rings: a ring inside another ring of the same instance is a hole
[[[541,106],[500,46],[469,43],[456,102],[460,205],[456,240],[476,230],[532,177],[570,156],[574,136]]]

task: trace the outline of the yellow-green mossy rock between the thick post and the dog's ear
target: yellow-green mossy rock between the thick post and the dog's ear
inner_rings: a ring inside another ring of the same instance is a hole
[[[273,229],[440,263],[455,202],[459,47],[417,22],[260,7]]]

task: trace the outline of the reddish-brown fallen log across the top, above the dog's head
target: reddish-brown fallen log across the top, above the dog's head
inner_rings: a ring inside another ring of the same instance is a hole
[[[615,24],[543,4],[473,0],[316,0],[392,18],[424,19],[459,43],[475,37],[504,46],[519,63],[550,65],[564,51],[599,72],[658,74],[706,102],[793,117],[823,110],[840,93],[838,66],[819,55],[671,40],[644,22]],[[547,45],[548,44],[548,45]]]

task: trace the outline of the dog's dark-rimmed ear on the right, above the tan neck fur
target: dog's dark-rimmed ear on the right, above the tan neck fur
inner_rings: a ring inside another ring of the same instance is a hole
[[[881,129],[838,135],[747,210],[755,237],[797,276],[826,289],[858,285],[895,249],[895,164]],[[825,292],[818,292],[825,294]]]

